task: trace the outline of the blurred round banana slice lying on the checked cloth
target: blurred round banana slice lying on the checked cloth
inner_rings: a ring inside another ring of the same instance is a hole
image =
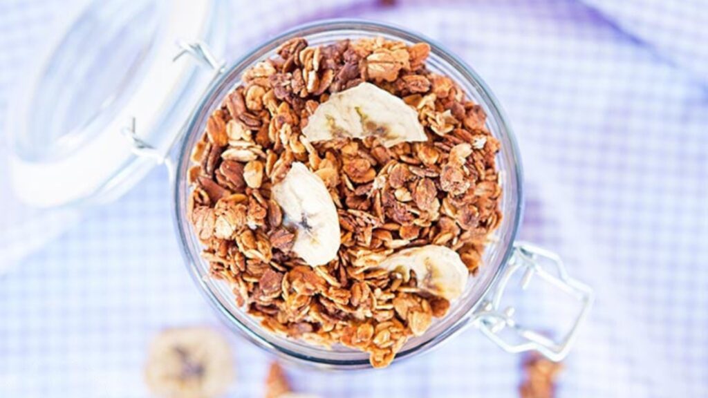
[[[231,347],[212,329],[169,329],[152,341],[145,381],[158,397],[219,397],[233,380]]]

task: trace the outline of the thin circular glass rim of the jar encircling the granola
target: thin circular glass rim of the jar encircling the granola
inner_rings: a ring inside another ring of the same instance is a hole
[[[415,356],[418,353],[423,353],[428,351],[428,349],[438,346],[442,341],[447,340],[448,337],[459,333],[465,326],[469,326],[469,315],[474,312],[474,310],[479,307],[480,303],[484,301],[487,292],[496,284],[501,276],[501,273],[513,252],[513,241],[515,241],[520,222],[523,216],[523,170],[520,163],[520,154],[518,151],[518,145],[513,135],[513,131],[510,128],[508,119],[504,114],[500,103],[493,95],[489,87],[486,85],[484,80],[481,79],[479,74],[477,74],[472,67],[470,67],[466,62],[462,61],[457,55],[447,50],[444,46],[440,45],[435,40],[431,40],[425,35],[419,33],[412,33],[406,28],[401,28],[396,25],[390,25],[388,23],[381,23],[375,21],[366,21],[362,19],[351,19],[351,18],[336,18],[327,19],[322,21],[316,21],[314,23],[307,23],[303,25],[298,25],[295,28],[287,30],[285,33],[275,36],[270,40],[267,40],[253,50],[249,51],[243,57],[240,57],[236,62],[234,62],[229,69],[227,69],[222,76],[217,79],[210,89],[208,89],[198,106],[193,110],[192,115],[188,119],[187,127],[185,129],[185,134],[183,135],[181,142],[176,146],[177,152],[177,163],[176,163],[176,173],[175,181],[173,181],[173,220],[178,232],[178,238],[180,240],[181,249],[183,253],[183,258],[185,260],[185,266],[187,266],[188,271],[195,283],[200,285],[200,290],[202,294],[205,295],[207,301],[218,309],[219,314],[228,320],[229,326],[236,326],[236,330],[244,334],[247,339],[255,343],[261,348],[265,348],[268,351],[278,353],[280,356],[288,360],[295,360],[297,363],[305,363],[307,365],[315,365],[322,368],[329,369],[354,369],[354,368],[370,368],[369,361],[366,358],[362,359],[333,359],[333,358],[322,358],[315,357],[312,355],[307,355],[294,350],[291,350],[284,346],[279,346],[276,343],[269,341],[265,336],[261,336],[256,331],[253,331],[249,326],[241,322],[240,319],[234,316],[234,314],[224,305],[224,303],[219,300],[217,293],[215,293],[212,288],[207,284],[207,280],[202,278],[198,270],[198,264],[200,261],[199,251],[195,251],[190,241],[191,232],[188,230],[188,223],[185,221],[185,208],[183,206],[183,195],[188,192],[188,187],[185,186],[186,181],[186,168],[185,165],[189,164],[190,158],[190,137],[194,135],[200,135],[202,132],[200,126],[204,123],[205,115],[208,116],[207,110],[210,110],[215,102],[218,103],[222,100],[222,95],[217,95],[227,88],[228,91],[233,89],[232,79],[235,74],[241,74],[243,70],[253,65],[255,62],[263,59],[264,55],[276,48],[280,43],[285,42],[291,38],[296,37],[309,37],[317,33],[331,33],[338,31],[350,31],[358,33],[370,33],[375,35],[392,35],[397,40],[403,40],[406,42],[426,42],[430,45],[430,54],[440,57],[443,62],[459,72],[465,79],[467,83],[474,84],[479,96],[481,96],[480,105],[485,106],[485,110],[489,119],[493,119],[495,124],[498,125],[498,129],[492,132],[493,135],[503,137],[504,145],[503,150],[508,150],[510,154],[510,172],[513,174],[510,176],[514,184],[513,192],[507,193],[506,189],[503,195],[513,195],[515,198],[515,208],[513,209],[513,214],[503,215],[503,217],[513,217],[508,228],[510,228],[505,233],[508,234],[508,239],[506,239],[506,245],[501,247],[503,254],[501,254],[501,261],[499,261],[496,270],[491,273],[489,278],[486,280],[483,286],[477,290],[476,300],[472,303],[467,303],[467,307],[464,311],[457,314],[457,319],[451,322],[442,331],[434,336],[430,337],[427,341],[423,341],[416,346],[411,348],[402,349],[396,354],[395,362],[398,362],[402,358],[409,358]],[[229,86],[229,87],[226,87]],[[470,93],[467,93],[469,97],[473,97]],[[187,189],[187,191],[185,191]],[[501,227],[500,227],[501,229]],[[471,299],[472,297],[468,297]],[[472,301],[472,300],[470,300]],[[447,314],[442,319],[450,317],[452,314]],[[248,315],[246,315],[248,316]],[[233,329],[233,328],[232,328]],[[271,332],[268,332],[271,333]],[[315,348],[315,346],[312,346]]]

